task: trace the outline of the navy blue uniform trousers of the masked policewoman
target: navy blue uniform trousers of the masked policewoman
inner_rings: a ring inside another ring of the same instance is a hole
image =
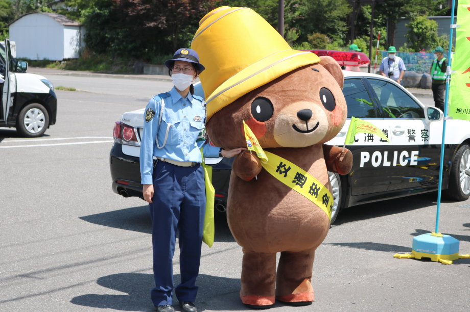
[[[180,302],[194,302],[206,203],[204,168],[200,164],[179,167],[158,161],[153,170],[153,188],[150,217],[155,288],[150,291],[152,302],[155,306],[172,304],[176,230],[181,273],[176,298]]]

